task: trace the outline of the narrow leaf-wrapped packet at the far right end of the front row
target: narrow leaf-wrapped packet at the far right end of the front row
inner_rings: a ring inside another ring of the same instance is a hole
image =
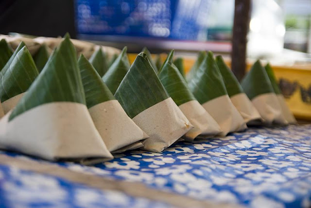
[[[276,93],[276,97],[277,97],[277,100],[281,106],[281,110],[282,110],[282,113],[286,119],[286,121],[289,123],[289,124],[296,124],[297,121],[293,115],[293,113],[291,112],[291,110],[289,109],[289,107],[287,106],[286,104],[286,101],[285,101],[285,98],[284,96],[282,95],[281,93],[281,90],[280,88],[278,87],[277,85],[277,82],[276,82],[276,76],[273,72],[273,69],[271,68],[270,64],[267,64],[265,66],[265,69],[266,69],[266,72],[268,74],[268,77],[271,81],[271,84],[272,84],[272,87],[273,87],[273,90],[274,92]]]

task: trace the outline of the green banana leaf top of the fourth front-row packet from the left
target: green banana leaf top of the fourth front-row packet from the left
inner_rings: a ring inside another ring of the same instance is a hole
[[[174,64],[165,64],[158,77],[177,106],[195,100],[188,89],[186,80]]]

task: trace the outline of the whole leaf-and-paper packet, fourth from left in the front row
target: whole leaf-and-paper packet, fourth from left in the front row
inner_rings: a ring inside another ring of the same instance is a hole
[[[186,80],[177,67],[172,63],[174,51],[168,55],[168,61],[158,74],[166,91],[177,104],[191,124],[194,126],[183,138],[193,141],[197,136],[214,136],[221,132],[221,128],[203,106],[195,99],[188,89]]]

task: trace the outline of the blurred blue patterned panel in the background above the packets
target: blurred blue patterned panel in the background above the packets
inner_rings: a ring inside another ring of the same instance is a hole
[[[198,40],[211,0],[76,0],[78,34]]]

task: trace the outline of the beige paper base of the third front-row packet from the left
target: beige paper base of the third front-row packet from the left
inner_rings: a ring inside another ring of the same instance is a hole
[[[193,128],[171,97],[140,112],[133,121],[149,135],[143,149],[152,152],[163,151]]]

